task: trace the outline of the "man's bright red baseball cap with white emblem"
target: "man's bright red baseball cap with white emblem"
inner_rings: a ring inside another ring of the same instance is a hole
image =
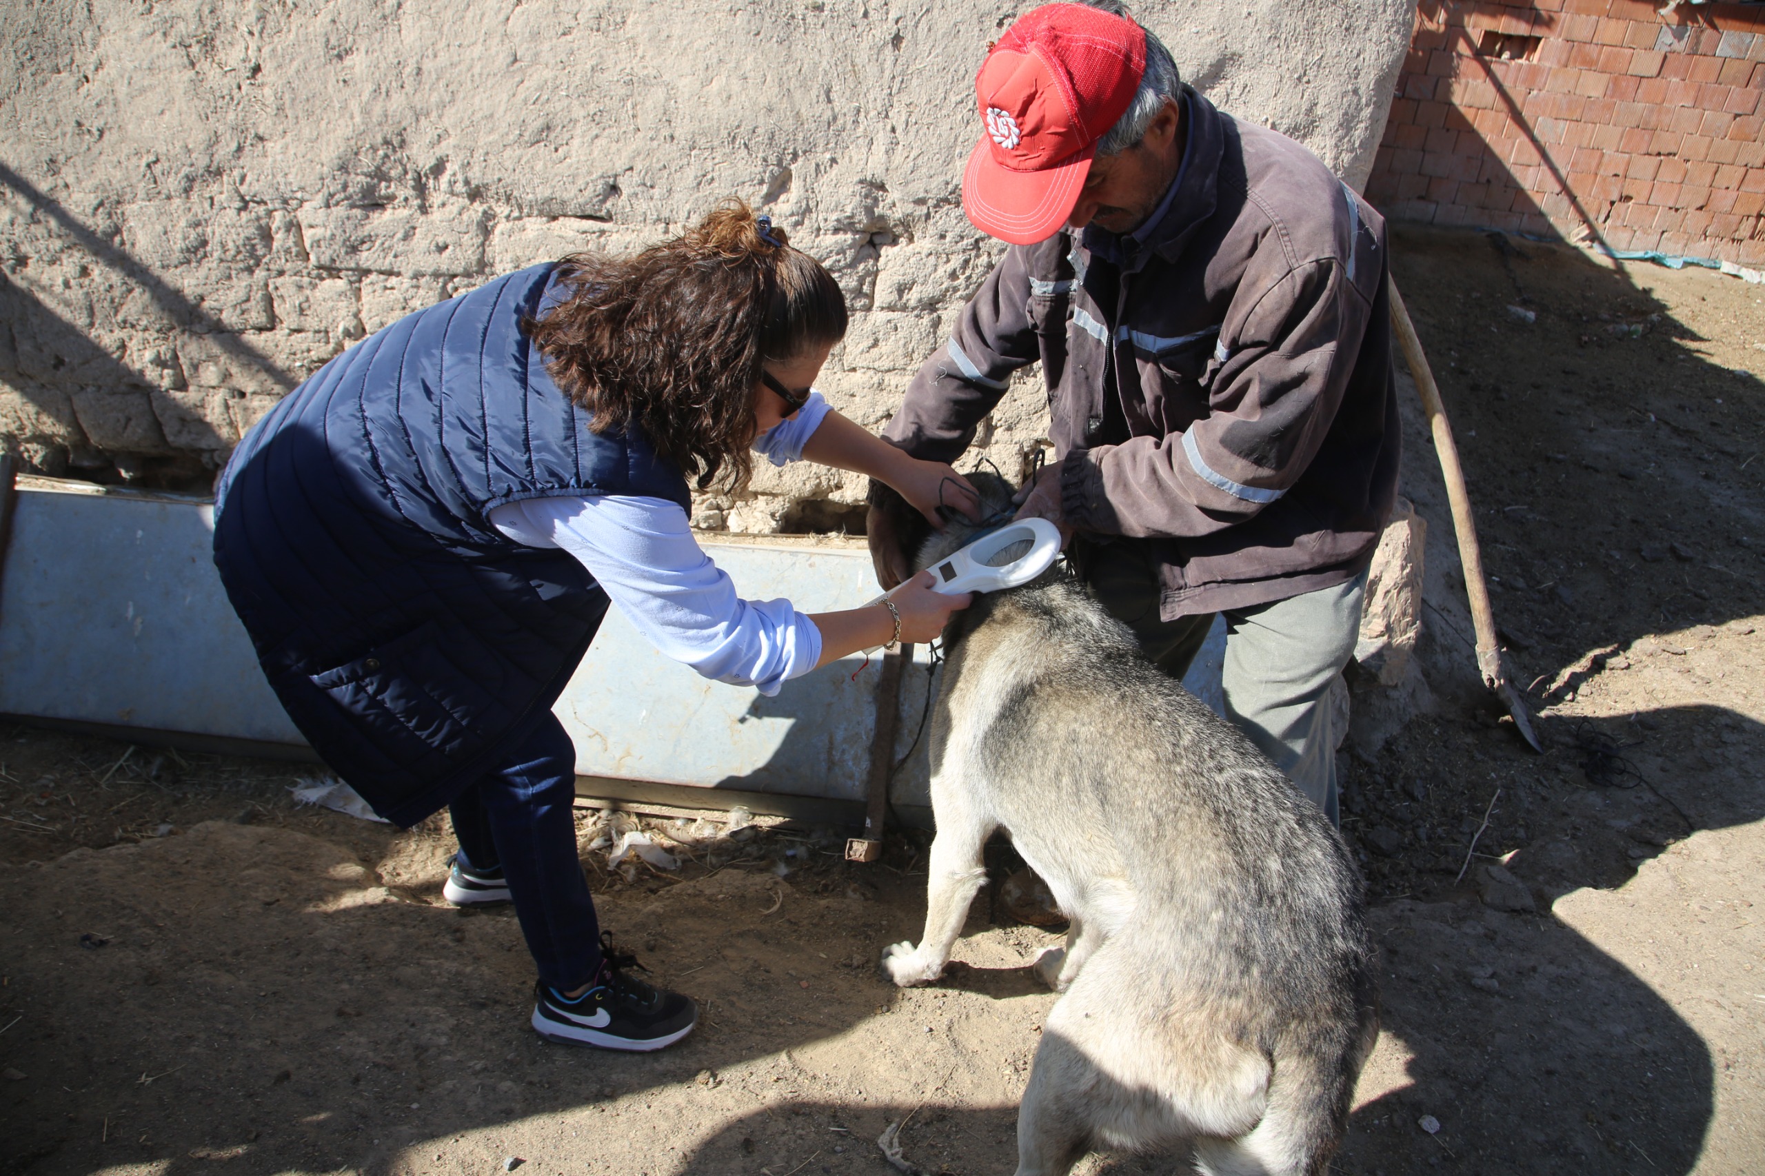
[[[1006,30],[974,76],[987,131],[962,175],[974,228],[1033,245],[1066,222],[1145,74],[1145,32],[1084,4],[1047,4]]]

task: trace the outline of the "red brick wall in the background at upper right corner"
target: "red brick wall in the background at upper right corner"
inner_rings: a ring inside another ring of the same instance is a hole
[[[1765,265],[1765,5],[1423,0],[1366,185],[1398,221]]]

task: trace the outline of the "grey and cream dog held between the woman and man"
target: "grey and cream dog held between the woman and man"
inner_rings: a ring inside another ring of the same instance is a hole
[[[953,521],[918,565],[969,537]],[[1071,918],[1036,964],[1066,996],[1024,1091],[1017,1176],[1064,1176],[1094,1146],[1322,1176],[1378,1035],[1341,837],[1064,572],[978,595],[946,655],[925,936],[882,964],[898,985],[939,976],[997,828]]]

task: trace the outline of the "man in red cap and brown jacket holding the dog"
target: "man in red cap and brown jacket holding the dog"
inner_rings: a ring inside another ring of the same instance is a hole
[[[1334,821],[1329,685],[1398,482],[1384,221],[1112,0],[1025,14],[976,92],[962,207],[1011,249],[884,436],[953,461],[1040,360],[1057,463],[1020,514],[1174,676],[1223,613],[1227,717]],[[886,487],[868,533],[904,579]]]

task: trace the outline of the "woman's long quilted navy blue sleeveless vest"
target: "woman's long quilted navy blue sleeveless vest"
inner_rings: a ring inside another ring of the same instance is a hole
[[[411,825],[499,766],[563,692],[607,595],[491,509],[556,494],[688,507],[635,434],[597,434],[522,321],[551,265],[349,348],[240,443],[215,565],[295,726],[381,816]]]

